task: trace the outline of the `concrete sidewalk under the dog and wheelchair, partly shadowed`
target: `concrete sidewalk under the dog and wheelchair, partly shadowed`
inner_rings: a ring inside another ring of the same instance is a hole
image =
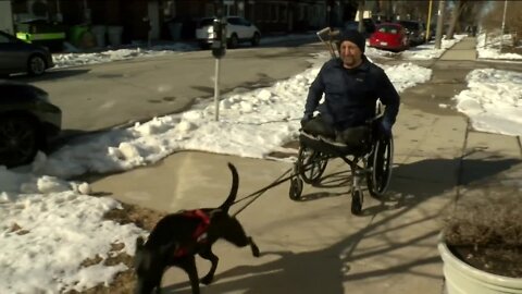
[[[348,167],[341,160],[328,162],[320,187],[304,186],[302,201],[288,198],[287,183],[268,191],[238,216],[262,256],[217,243],[215,282],[202,286],[202,293],[442,293],[440,216],[463,196],[510,188],[496,179],[522,175],[517,138],[473,132],[465,117],[438,107],[465,88],[469,72],[448,71],[446,61],[474,58],[474,39],[467,38],[435,62],[430,83],[401,95],[396,164],[383,201],[366,196],[363,216],[352,216]],[[239,197],[291,168],[282,161],[183,151],[91,185],[95,192],[163,211],[214,206],[229,189],[227,161],[239,171]],[[200,259],[198,267],[200,275],[209,269]],[[191,293],[178,269],[166,272],[163,285],[165,293]]]

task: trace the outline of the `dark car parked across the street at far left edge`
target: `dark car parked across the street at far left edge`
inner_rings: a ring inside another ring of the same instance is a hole
[[[0,30],[0,75],[21,72],[41,75],[52,66],[54,63],[49,49]]]

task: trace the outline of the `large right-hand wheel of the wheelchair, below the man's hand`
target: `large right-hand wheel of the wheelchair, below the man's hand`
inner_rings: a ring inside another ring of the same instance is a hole
[[[372,196],[380,197],[388,188],[393,162],[394,138],[377,139],[368,160],[371,172],[366,174],[366,183]]]

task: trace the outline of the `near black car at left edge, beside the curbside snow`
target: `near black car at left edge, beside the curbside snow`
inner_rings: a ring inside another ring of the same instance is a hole
[[[33,161],[61,131],[62,111],[35,86],[0,79],[0,166]]]

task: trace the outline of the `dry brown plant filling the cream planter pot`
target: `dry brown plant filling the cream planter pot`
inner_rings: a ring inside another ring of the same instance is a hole
[[[517,194],[459,203],[444,238],[461,260],[486,272],[522,278],[522,201]]]

